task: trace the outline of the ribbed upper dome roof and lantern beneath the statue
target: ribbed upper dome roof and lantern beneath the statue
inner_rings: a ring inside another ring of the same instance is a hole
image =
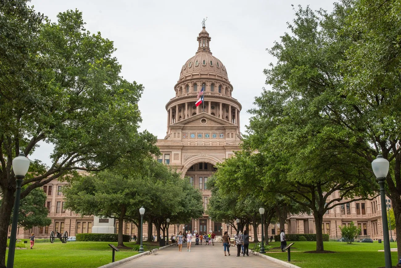
[[[188,74],[209,73],[211,75],[222,76],[228,80],[225,66],[217,57],[213,56],[210,51],[210,40],[209,33],[206,31],[205,27],[203,27],[197,37],[199,45],[198,51],[182,66],[180,79]]]

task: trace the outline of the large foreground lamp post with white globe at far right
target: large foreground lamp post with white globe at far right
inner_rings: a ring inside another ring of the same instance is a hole
[[[384,191],[384,184],[389,173],[389,161],[383,158],[383,155],[377,155],[377,158],[372,162],[373,173],[375,173],[376,180],[380,185],[380,200],[381,200],[381,217],[383,222],[383,240],[384,240],[384,259],[385,268],[393,267],[391,265],[391,252],[389,241],[389,226],[387,225],[386,213],[386,194]]]

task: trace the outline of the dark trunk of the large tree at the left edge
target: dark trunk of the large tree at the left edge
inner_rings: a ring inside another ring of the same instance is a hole
[[[6,247],[8,237],[8,226],[12,207],[14,207],[15,190],[7,190],[3,192],[2,204],[0,206],[0,267],[6,268]],[[401,229],[400,229],[401,230]]]

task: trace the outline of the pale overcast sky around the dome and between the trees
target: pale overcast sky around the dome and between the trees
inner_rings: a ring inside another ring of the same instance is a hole
[[[247,110],[265,85],[263,70],[275,59],[266,49],[288,32],[298,5],[331,11],[333,0],[32,0],[36,12],[53,22],[68,9],[83,12],[86,29],[114,41],[122,76],[144,86],[139,102],[141,129],[158,139],[166,135],[165,105],[175,96],[182,65],[195,55],[196,37],[207,17],[210,48],[227,69],[233,98],[242,104],[241,131],[251,115]],[[51,165],[53,146],[41,143],[30,156]]]

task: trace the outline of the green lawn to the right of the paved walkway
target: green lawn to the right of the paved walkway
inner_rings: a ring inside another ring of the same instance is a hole
[[[290,242],[288,242],[289,244]],[[279,242],[271,242],[269,245],[279,247]],[[253,247],[253,245],[252,245]],[[252,248],[249,245],[249,248]],[[345,242],[324,242],[324,250],[335,251],[336,253],[312,254],[305,251],[316,250],[316,242],[296,241],[291,250],[291,263],[302,268],[377,268],[383,267],[384,244],[377,243],[357,243],[348,245]],[[397,248],[397,243],[390,243],[391,248]],[[277,250],[275,250],[277,251]],[[300,252],[296,252],[300,251]],[[287,261],[287,252],[272,252],[266,255],[280,260]],[[393,266],[397,265],[397,252],[391,252]]]

